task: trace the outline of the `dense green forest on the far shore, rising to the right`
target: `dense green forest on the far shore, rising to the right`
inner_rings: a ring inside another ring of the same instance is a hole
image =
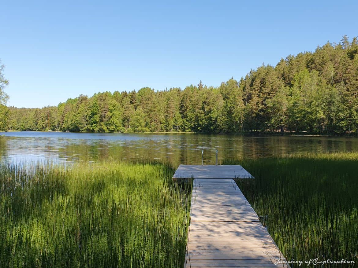
[[[9,107],[9,130],[358,132],[358,41],[262,65],[219,87],[103,92],[41,109]],[[4,103],[0,103],[3,105]]]

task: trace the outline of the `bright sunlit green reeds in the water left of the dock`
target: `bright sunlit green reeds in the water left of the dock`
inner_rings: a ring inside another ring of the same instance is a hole
[[[0,168],[0,267],[183,266],[190,189],[170,165]]]

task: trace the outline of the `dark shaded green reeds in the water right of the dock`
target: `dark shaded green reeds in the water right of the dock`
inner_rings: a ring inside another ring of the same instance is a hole
[[[355,260],[349,267],[357,267],[357,153],[227,160],[225,164],[241,164],[256,178],[237,183],[287,260],[345,259]]]

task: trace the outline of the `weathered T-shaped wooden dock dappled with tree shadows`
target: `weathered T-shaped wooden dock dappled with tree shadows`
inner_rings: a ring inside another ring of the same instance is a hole
[[[241,166],[180,165],[173,178],[194,178],[184,268],[289,267],[234,178]]]

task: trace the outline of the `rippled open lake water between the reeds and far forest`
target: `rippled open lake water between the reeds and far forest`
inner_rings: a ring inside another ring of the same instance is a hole
[[[272,157],[303,152],[358,151],[358,138],[123,134],[63,132],[0,133],[1,162],[74,163],[105,159],[153,159],[178,164],[215,164],[218,159]]]

